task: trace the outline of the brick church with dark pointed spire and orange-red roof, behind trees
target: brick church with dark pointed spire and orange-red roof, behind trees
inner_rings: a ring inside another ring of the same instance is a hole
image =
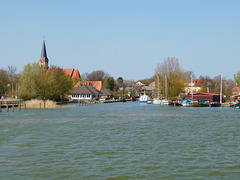
[[[45,68],[49,68],[48,67],[48,57],[47,57],[47,50],[46,50],[46,45],[45,45],[45,40],[43,40],[43,46],[42,46],[42,53],[41,53],[41,58],[39,59],[39,66],[40,67],[45,67]],[[77,69],[62,69],[63,72],[71,77],[72,79],[80,79],[80,73]]]

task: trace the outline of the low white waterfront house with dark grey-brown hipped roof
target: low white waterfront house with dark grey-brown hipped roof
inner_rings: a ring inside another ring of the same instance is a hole
[[[92,85],[80,85],[69,93],[72,100],[94,100],[103,95],[103,93]]]

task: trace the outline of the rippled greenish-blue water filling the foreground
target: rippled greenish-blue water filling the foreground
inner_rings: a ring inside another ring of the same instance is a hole
[[[0,113],[0,179],[239,178],[240,110],[127,102]]]

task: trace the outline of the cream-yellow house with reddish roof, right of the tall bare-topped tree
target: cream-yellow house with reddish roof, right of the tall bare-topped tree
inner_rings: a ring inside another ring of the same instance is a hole
[[[185,94],[192,93],[192,91],[193,93],[200,92],[202,83],[202,79],[187,79],[184,87]]]

